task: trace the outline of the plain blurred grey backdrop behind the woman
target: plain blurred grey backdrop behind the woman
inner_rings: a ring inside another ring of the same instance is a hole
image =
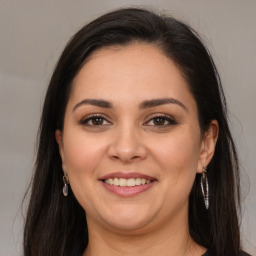
[[[219,68],[242,165],[243,242],[256,255],[255,0],[0,0],[0,255],[21,255],[20,204],[52,69],[83,24],[121,6],[167,10],[190,23]]]

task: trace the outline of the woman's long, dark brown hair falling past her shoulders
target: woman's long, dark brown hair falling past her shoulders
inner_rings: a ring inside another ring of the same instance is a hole
[[[206,210],[197,176],[189,198],[192,238],[214,255],[237,256],[240,231],[239,171],[227,123],[226,101],[214,62],[188,25],[145,9],[120,9],[77,32],[52,75],[38,134],[35,172],[24,231],[25,256],[81,256],[88,243],[86,215],[70,192],[62,195],[62,165],[55,131],[62,130],[72,82],[88,56],[103,47],[133,42],[155,45],[180,68],[196,100],[202,133],[219,123],[216,151],[208,166],[210,207]]]

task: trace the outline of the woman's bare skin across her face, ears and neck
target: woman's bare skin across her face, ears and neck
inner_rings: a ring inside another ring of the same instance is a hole
[[[177,66],[148,44],[100,49],[78,73],[56,140],[63,171],[87,216],[84,255],[205,252],[188,232],[188,197],[196,173],[214,154],[218,124],[213,120],[201,134],[188,88]],[[174,101],[141,108],[144,101],[166,98]],[[85,99],[112,106],[81,103]],[[99,181],[112,172],[139,172],[157,182],[122,197]]]

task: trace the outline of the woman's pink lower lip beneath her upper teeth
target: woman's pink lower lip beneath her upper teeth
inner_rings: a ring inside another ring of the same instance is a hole
[[[156,181],[151,181],[149,184],[145,184],[145,185],[139,185],[134,187],[120,187],[120,186],[109,185],[104,181],[101,181],[101,182],[105,189],[122,197],[130,197],[130,196],[135,196],[140,193],[143,193],[149,190],[156,183]]]

